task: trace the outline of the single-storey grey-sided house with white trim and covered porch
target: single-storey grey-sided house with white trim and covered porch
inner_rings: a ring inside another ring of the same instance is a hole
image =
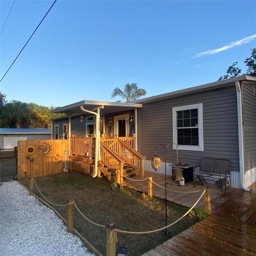
[[[232,187],[256,181],[256,77],[244,75],[129,103],[84,100],[60,107],[52,112],[66,116],[52,120],[53,138],[95,136],[95,110],[101,136],[135,137],[135,149],[146,158],[145,170],[153,171],[150,160],[158,143],[171,143],[167,162],[176,163],[176,143],[185,163],[199,165],[202,157],[229,159]],[[161,146],[157,154],[163,156]]]

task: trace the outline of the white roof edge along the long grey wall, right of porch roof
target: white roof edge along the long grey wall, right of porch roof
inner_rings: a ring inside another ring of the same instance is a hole
[[[256,82],[256,77],[249,76],[249,75],[238,76],[238,77],[234,77],[234,78],[230,78],[230,79],[226,79],[226,80],[222,80],[222,81],[217,81],[217,82],[210,83],[210,84],[203,84],[203,85],[194,86],[194,87],[190,87],[190,88],[186,88],[186,89],[182,89],[182,90],[178,90],[178,91],[174,91],[174,92],[168,92],[168,93],[163,93],[163,94],[159,94],[156,96],[151,96],[151,97],[147,97],[147,98],[143,98],[143,99],[139,99],[139,100],[134,100],[134,101],[132,101],[132,103],[147,103],[147,102],[151,102],[151,101],[162,100],[164,98],[177,97],[182,94],[195,93],[199,90],[203,91],[203,90],[210,90],[210,89],[214,89],[214,88],[218,88],[218,87],[225,87],[228,85],[235,84],[236,81]]]

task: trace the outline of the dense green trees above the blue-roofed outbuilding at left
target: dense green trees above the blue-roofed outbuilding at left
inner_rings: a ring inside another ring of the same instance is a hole
[[[35,103],[18,100],[7,102],[6,95],[1,92],[0,126],[5,128],[51,128],[50,119],[62,116],[53,114],[54,107],[44,107]]]

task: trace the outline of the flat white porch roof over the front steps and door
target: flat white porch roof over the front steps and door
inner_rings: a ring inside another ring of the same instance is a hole
[[[103,114],[121,112],[126,110],[132,110],[135,108],[142,108],[141,103],[130,103],[130,102],[110,102],[110,101],[93,101],[93,100],[82,100],[76,103],[66,105],[60,108],[55,108],[52,113],[66,113],[67,115],[71,114],[82,114],[84,113],[80,106],[83,106],[88,110],[95,110],[98,107],[103,108],[100,110]]]

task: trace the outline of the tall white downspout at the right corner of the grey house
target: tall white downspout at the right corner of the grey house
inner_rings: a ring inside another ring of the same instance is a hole
[[[244,137],[243,137],[243,113],[242,113],[242,93],[239,81],[235,82],[237,95],[237,116],[238,116],[238,141],[239,141],[239,166],[240,183],[245,191],[251,191],[244,185]]]

